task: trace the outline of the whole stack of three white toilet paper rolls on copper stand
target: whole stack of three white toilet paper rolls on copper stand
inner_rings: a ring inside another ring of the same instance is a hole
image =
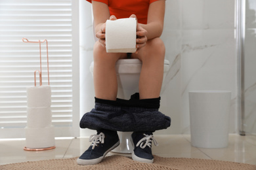
[[[26,147],[50,148],[55,145],[51,112],[51,87],[27,88]]]

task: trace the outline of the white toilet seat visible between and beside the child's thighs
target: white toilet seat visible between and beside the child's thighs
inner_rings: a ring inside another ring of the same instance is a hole
[[[164,60],[163,72],[167,72],[169,69],[169,61],[167,59]],[[142,61],[139,59],[119,59],[116,62],[116,73],[140,73],[142,66]],[[90,71],[93,73],[93,62],[90,66]]]

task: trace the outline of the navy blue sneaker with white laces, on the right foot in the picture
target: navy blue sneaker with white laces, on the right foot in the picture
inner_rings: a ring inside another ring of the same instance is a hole
[[[152,155],[152,141],[156,146],[158,143],[156,139],[154,139],[152,132],[142,133],[142,132],[133,132],[131,135],[132,144],[134,146],[134,150],[132,153],[132,158],[135,161],[140,161],[144,163],[153,163],[154,157]],[[136,145],[135,145],[136,144]]]

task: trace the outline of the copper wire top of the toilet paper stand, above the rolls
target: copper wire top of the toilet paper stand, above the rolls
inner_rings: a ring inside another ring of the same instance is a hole
[[[48,41],[47,39],[44,39],[43,41],[28,41],[28,39],[23,38],[23,42],[31,42],[31,43],[39,43],[39,52],[40,52],[40,70],[36,70],[34,72],[34,79],[35,79],[35,86],[36,85],[36,73],[39,73],[39,84],[42,86],[42,60],[41,60],[41,43],[46,42],[46,52],[47,52],[47,73],[48,73],[48,85],[50,85],[50,79],[49,79],[49,56],[48,56]]]

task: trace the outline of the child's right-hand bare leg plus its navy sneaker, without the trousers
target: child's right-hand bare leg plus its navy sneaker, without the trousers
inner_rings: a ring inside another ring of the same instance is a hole
[[[138,102],[141,102],[141,99],[152,100],[160,97],[165,58],[163,41],[160,38],[147,41],[146,46],[140,49],[139,54],[133,55],[133,58],[139,58],[142,61],[139,82],[140,100]],[[133,133],[132,137],[135,144],[132,154],[133,160],[152,163],[154,161],[151,150],[152,140],[154,140],[153,134],[151,132]],[[144,145],[142,146],[141,143]]]

